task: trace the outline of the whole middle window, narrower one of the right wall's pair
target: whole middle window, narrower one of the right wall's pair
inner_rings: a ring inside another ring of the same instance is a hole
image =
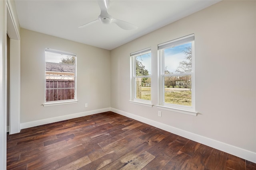
[[[131,53],[131,101],[151,103],[151,49]],[[151,105],[152,107],[152,105]]]

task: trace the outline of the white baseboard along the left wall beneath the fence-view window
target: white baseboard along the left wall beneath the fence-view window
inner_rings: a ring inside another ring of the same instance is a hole
[[[104,109],[85,111],[85,112],[81,112],[81,113],[74,113],[74,114],[64,115],[64,116],[59,116],[59,117],[52,117],[52,118],[49,118],[49,119],[42,119],[42,120],[37,120],[37,121],[30,121],[30,122],[26,122],[26,123],[20,123],[20,129],[45,125],[45,124],[48,124],[48,123],[54,123],[54,122],[73,119],[73,118],[82,117],[82,116],[93,115],[93,114],[96,114],[96,113],[102,113],[102,112],[106,112],[106,111],[110,111],[110,107],[104,108]]]

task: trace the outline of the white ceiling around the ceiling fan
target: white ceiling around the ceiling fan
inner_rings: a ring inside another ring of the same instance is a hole
[[[219,1],[112,0],[108,14],[136,25],[135,30],[100,22],[78,28],[100,15],[96,0],[15,0],[15,4],[22,28],[112,50]]]

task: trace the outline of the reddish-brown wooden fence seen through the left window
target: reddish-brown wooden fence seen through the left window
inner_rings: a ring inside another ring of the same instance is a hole
[[[69,100],[75,97],[74,80],[46,80],[46,102]]]

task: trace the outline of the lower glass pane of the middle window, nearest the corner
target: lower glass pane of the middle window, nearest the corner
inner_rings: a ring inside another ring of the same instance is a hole
[[[135,78],[135,98],[151,100],[151,78]]]

